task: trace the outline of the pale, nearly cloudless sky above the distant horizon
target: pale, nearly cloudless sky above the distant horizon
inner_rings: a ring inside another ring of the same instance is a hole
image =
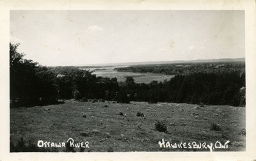
[[[44,66],[239,58],[244,11],[10,11],[10,42]]]

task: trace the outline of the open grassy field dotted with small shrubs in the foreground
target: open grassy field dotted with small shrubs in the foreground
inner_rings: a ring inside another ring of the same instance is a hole
[[[84,151],[209,151],[159,148],[158,142],[164,139],[170,143],[220,141],[224,144],[228,140],[228,149],[214,151],[245,150],[245,107],[205,105],[195,109],[195,106],[65,100],[65,104],[20,107],[10,109],[10,139],[17,144],[23,137],[26,144],[37,144],[38,140],[67,142],[72,137],[75,141],[89,142],[90,148]],[[51,111],[45,111],[46,108]],[[145,116],[138,117],[137,112]],[[154,123],[161,120],[165,121],[167,132],[155,129]],[[221,130],[210,130],[211,123],[219,124]]]

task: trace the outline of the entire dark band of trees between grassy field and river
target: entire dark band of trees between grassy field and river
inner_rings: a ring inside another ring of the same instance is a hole
[[[24,59],[19,44],[10,43],[11,107],[58,104],[59,99],[104,99],[120,103],[177,102],[211,105],[245,105],[245,73],[193,72],[163,82],[135,83],[96,77],[73,66],[45,67]]]

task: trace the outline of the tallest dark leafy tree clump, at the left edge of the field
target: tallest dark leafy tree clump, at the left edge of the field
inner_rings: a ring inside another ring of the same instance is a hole
[[[10,105],[31,106],[56,102],[56,75],[17,52],[10,43]]]

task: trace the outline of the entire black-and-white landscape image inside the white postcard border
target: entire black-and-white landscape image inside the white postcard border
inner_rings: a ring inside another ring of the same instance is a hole
[[[245,10],[9,13],[10,155],[248,151]]]

